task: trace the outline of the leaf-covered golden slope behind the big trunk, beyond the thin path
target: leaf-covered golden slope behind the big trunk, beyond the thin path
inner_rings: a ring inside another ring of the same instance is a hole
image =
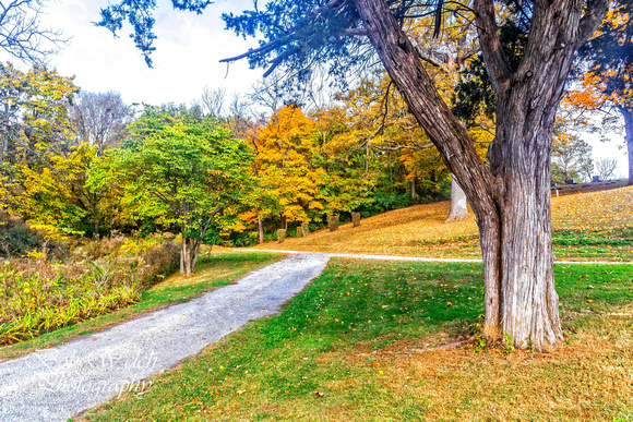
[[[264,249],[429,257],[480,257],[475,217],[444,224],[447,202],[416,205]],[[558,260],[633,261],[633,186],[552,197]]]

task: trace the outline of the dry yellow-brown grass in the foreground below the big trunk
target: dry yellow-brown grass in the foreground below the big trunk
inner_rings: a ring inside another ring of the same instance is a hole
[[[626,421],[633,417],[631,311],[593,315],[608,333],[580,330],[547,354],[474,353],[471,343],[419,351],[428,339],[392,351],[335,351],[319,357],[318,365],[350,376],[324,382],[322,398],[230,396],[201,413],[227,421]]]

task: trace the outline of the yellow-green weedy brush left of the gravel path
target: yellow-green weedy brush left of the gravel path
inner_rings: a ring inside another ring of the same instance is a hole
[[[0,264],[0,345],[135,303],[179,257],[170,241],[115,236],[76,248],[64,262],[8,260]]]

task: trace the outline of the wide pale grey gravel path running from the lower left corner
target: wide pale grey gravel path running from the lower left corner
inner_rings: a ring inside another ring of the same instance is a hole
[[[275,313],[330,256],[291,254],[190,302],[0,363],[1,421],[65,421],[175,366],[249,319]]]

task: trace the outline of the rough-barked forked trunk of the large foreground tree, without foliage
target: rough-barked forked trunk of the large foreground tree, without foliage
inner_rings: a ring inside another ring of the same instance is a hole
[[[382,63],[477,216],[485,273],[483,333],[546,351],[562,340],[553,282],[550,150],[557,107],[577,48],[605,16],[608,0],[535,0],[522,63],[512,71],[492,0],[475,0],[479,41],[498,95],[490,169],[438,94],[417,49],[385,0],[354,0]],[[585,12],[583,14],[583,11]]]

